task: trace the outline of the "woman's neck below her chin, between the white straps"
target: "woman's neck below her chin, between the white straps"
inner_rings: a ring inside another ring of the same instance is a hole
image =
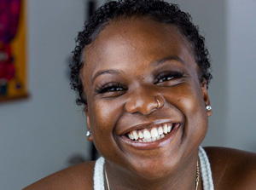
[[[136,172],[124,169],[117,164],[106,160],[106,170],[108,172],[108,182],[111,190],[115,189],[180,189],[194,190],[196,179],[196,163],[198,153],[194,153],[186,159],[186,162],[179,164],[177,168],[159,178],[149,179],[138,175]],[[107,183],[105,181],[108,189]],[[201,178],[198,190],[202,189]]]

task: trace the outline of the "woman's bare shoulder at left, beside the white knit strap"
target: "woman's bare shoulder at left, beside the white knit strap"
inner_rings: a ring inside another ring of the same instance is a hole
[[[23,190],[41,189],[93,189],[95,162],[85,162],[61,170],[33,183]]]

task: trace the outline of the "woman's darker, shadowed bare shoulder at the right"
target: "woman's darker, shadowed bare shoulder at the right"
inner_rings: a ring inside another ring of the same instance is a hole
[[[255,189],[256,153],[225,147],[205,147],[215,189]]]

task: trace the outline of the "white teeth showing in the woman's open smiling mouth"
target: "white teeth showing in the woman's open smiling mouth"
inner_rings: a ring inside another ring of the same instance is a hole
[[[173,129],[180,126],[179,123],[159,124],[150,129],[132,130],[125,134],[131,141],[151,142],[158,141],[170,134]]]

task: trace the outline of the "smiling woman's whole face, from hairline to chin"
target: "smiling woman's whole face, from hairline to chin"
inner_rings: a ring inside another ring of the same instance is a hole
[[[177,27],[115,20],[84,51],[90,140],[104,158],[148,178],[197,158],[211,112],[193,51]]]

